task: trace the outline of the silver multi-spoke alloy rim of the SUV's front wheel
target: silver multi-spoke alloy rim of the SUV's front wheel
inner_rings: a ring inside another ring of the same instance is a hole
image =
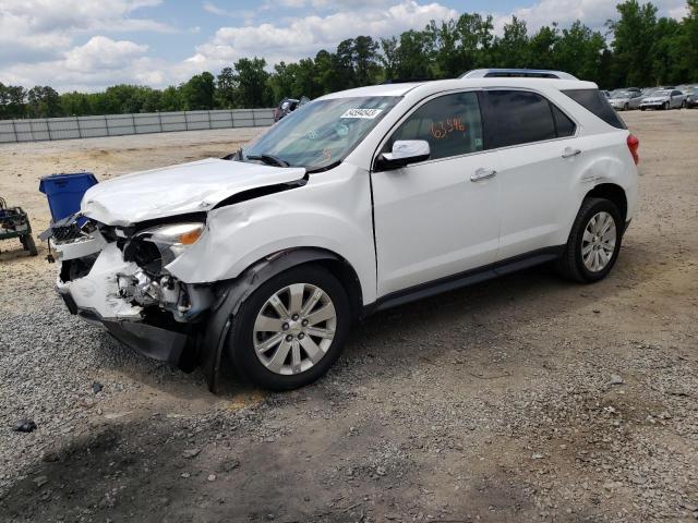
[[[257,313],[254,352],[272,373],[300,374],[325,356],[336,328],[329,295],[311,283],[293,283],[274,293]]]

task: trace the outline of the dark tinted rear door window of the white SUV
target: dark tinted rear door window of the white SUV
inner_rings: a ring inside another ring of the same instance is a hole
[[[525,90],[490,90],[490,105],[497,120],[497,147],[557,137],[550,102]]]

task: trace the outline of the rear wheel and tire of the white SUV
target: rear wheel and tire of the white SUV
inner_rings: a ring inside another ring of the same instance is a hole
[[[610,200],[587,198],[577,214],[557,271],[580,283],[602,280],[618,258],[623,228],[621,212]]]

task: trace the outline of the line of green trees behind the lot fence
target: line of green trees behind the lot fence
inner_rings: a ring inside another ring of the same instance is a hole
[[[626,0],[616,10],[606,35],[579,21],[529,34],[526,21],[513,16],[497,36],[492,16],[464,13],[389,38],[349,38],[335,52],[323,49],[272,71],[262,58],[242,58],[217,76],[203,72],[165,89],[116,85],[103,93],[58,94],[50,86],[0,83],[0,119],[269,107],[286,96],[456,77],[477,68],[557,69],[603,88],[698,82],[698,0],[687,0],[681,21],[658,17],[651,2]]]

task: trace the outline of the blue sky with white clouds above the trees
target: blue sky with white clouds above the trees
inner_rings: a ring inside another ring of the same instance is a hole
[[[163,87],[241,57],[269,64],[333,50],[341,39],[421,28],[479,12],[501,32],[513,14],[530,32],[553,21],[601,28],[614,0],[0,0],[0,82],[98,90]],[[653,0],[681,17],[685,0]]]

